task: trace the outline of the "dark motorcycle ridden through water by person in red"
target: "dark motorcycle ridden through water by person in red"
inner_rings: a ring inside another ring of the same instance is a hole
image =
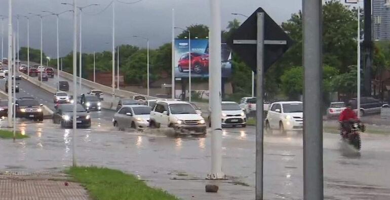
[[[347,141],[350,145],[354,146],[356,149],[360,150],[362,147],[362,141],[360,138],[360,133],[366,131],[366,126],[361,122],[350,122],[348,130],[343,128],[342,122],[340,122],[340,135],[341,138]]]

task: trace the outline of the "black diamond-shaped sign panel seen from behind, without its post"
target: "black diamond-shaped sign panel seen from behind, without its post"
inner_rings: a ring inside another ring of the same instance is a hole
[[[227,44],[256,73],[257,13],[264,13],[264,71],[290,48],[293,41],[283,29],[258,8],[227,40]]]

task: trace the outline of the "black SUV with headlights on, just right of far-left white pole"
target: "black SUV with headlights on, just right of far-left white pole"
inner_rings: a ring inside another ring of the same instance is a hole
[[[44,113],[41,109],[43,104],[38,103],[32,97],[21,97],[16,100],[16,116],[19,118],[43,121]]]

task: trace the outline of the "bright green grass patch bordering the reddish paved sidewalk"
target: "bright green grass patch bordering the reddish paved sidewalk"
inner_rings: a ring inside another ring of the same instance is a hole
[[[147,186],[134,175],[98,167],[71,167],[66,173],[83,184],[95,200],[178,199],[162,189]]]

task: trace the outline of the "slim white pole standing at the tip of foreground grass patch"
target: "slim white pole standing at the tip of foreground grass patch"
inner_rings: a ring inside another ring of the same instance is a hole
[[[72,164],[76,166],[76,130],[77,130],[77,6],[73,0],[73,132],[72,132]]]

